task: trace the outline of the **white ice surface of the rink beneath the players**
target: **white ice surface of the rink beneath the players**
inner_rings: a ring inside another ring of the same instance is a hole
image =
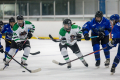
[[[120,80],[120,65],[116,68],[116,73],[110,75],[111,65],[113,59],[117,54],[117,47],[110,50],[111,52],[111,64],[109,68],[105,68],[105,56],[101,51],[101,65],[100,68],[95,67],[94,54],[86,56],[85,59],[89,64],[89,67],[85,67],[80,60],[72,62],[71,70],[67,69],[67,65],[59,66],[52,63],[52,60],[58,62],[65,62],[60,50],[59,43],[55,43],[52,40],[37,40],[31,39],[31,52],[40,51],[38,55],[29,55],[27,60],[28,69],[34,70],[41,68],[38,73],[29,73],[24,68],[20,67],[15,61],[10,62],[10,66],[4,71],[0,72],[0,80]],[[4,41],[2,40],[2,44]],[[78,42],[83,55],[93,52],[91,41]],[[75,54],[68,48],[68,54],[70,59],[77,58]],[[14,57],[21,62],[23,51],[19,51]],[[0,53],[0,68],[3,68],[3,56]],[[26,71],[26,72],[22,72]]]

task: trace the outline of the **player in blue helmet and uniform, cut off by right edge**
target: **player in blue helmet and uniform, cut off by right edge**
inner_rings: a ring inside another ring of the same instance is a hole
[[[119,22],[119,15],[113,14],[110,16],[110,20],[112,21],[114,27],[112,29],[112,41],[107,44],[107,49],[112,49],[112,47],[116,47],[118,43],[120,43],[120,22]],[[111,67],[111,74],[115,73],[115,68],[119,64],[120,61],[120,44],[118,45],[117,55],[114,58],[112,67]]]

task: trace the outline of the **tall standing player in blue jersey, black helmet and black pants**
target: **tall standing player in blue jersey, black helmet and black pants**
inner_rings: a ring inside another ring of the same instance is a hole
[[[111,32],[110,21],[103,17],[102,11],[97,11],[95,18],[83,25],[82,31],[85,37],[85,40],[89,40],[89,31],[92,30],[91,36],[99,36],[98,38],[92,38],[93,50],[97,51],[100,49],[100,44],[103,48],[106,47],[106,44],[109,42],[109,33]],[[109,67],[110,64],[110,51],[104,49],[104,54],[106,57],[105,66]],[[100,66],[100,52],[95,54],[96,64],[95,66],[99,68]]]

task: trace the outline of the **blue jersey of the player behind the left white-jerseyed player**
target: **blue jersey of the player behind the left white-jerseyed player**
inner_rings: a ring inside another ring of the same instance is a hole
[[[10,24],[6,24],[3,26],[2,33],[6,33],[6,39],[12,40],[13,31]]]

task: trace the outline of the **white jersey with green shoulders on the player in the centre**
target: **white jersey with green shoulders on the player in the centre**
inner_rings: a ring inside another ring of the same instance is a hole
[[[71,39],[70,36],[71,36],[71,35],[77,36],[78,33],[79,33],[79,34],[82,33],[82,32],[81,32],[81,27],[78,26],[78,25],[72,25],[70,32],[67,32],[67,31],[64,29],[64,27],[62,27],[62,28],[60,29],[60,31],[59,31],[59,39],[61,39],[61,38],[66,38],[68,45],[74,45],[74,44],[77,42],[77,40]],[[61,44],[64,45],[64,43],[61,43]]]

